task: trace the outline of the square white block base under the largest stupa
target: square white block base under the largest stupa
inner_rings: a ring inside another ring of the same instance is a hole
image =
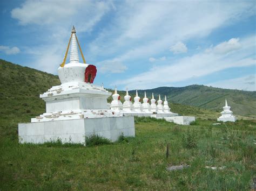
[[[42,144],[56,140],[85,145],[93,134],[116,141],[119,136],[134,137],[134,117],[102,117],[61,121],[19,123],[19,143]],[[86,146],[86,145],[85,145]]]

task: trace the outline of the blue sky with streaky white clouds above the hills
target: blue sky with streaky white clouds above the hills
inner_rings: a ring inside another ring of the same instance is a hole
[[[75,25],[105,87],[255,91],[255,10],[255,1],[1,1],[0,58],[57,74]]]

